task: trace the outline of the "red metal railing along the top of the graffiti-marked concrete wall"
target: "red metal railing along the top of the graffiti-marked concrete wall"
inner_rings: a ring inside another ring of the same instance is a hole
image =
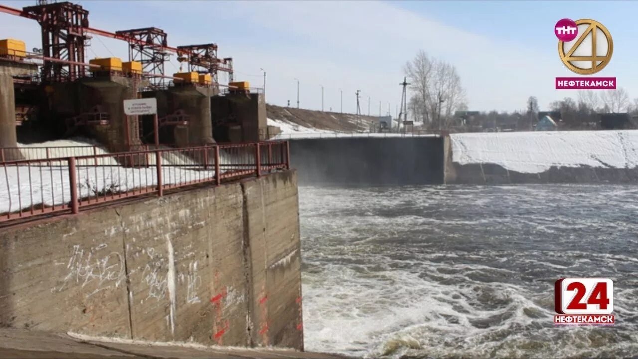
[[[290,168],[288,142],[0,162],[0,222]]]

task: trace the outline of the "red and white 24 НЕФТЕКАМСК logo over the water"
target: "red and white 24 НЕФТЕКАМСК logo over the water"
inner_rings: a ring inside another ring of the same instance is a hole
[[[554,325],[614,325],[614,282],[563,278],[554,283]]]

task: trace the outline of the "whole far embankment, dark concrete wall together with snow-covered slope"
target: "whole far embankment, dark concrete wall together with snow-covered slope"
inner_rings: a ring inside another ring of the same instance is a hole
[[[638,182],[638,130],[290,141],[308,185]]]

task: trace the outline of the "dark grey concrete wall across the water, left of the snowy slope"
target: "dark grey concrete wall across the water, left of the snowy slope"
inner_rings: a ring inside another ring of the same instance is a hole
[[[294,139],[290,161],[301,184],[443,183],[441,137]]]

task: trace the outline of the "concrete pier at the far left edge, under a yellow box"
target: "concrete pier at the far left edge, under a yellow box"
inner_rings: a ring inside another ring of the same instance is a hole
[[[16,147],[13,76],[35,75],[38,66],[0,59],[0,147]],[[22,160],[18,151],[6,151],[4,160]]]

